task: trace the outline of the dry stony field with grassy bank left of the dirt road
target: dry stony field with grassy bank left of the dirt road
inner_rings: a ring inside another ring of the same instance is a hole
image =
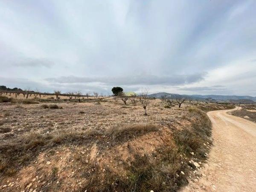
[[[0,190],[177,191],[207,158],[204,111],[232,107],[60,101],[0,103]]]

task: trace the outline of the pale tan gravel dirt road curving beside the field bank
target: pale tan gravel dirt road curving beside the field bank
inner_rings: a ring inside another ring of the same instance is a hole
[[[256,123],[227,114],[233,110],[207,113],[214,146],[202,177],[183,192],[256,192]]]

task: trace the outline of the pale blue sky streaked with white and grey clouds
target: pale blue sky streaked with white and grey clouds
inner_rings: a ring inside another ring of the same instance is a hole
[[[255,0],[1,0],[0,85],[256,96]]]

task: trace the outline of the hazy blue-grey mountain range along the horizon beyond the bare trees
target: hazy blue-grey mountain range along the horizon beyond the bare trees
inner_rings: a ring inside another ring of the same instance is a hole
[[[199,100],[215,100],[215,101],[233,101],[239,99],[247,99],[251,101],[256,101],[256,97],[253,96],[235,96],[235,95],[180,95],[173,93],[153,93],[148,95],[149,97],[161,98],[162,96],[176,98],[176,97],[186,97],[189,99],[199,99]]]

